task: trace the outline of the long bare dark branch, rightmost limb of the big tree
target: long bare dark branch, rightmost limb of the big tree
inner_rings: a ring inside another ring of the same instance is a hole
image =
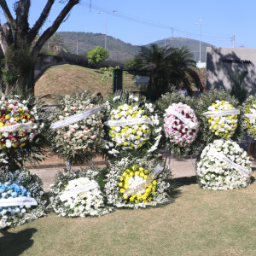
[[[69,0],[67,5],[61,10],[60,14],[55,19],[52,26],[49,26],[47,30],[44,31],[42,36],[38,39],[38,42],[35,44],[35,46],[32,49],[32,60],[35,61],[40,49],[43,47],[44,43],[57,31],[59,26],[61,25],[61,22],[65,19],[65,17],[68,15],[71,9],[73,9],[73,6],[78,4],[79,0]]]

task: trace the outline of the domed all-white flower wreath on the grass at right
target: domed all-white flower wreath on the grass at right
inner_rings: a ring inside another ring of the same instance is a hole
[[[228,158],[232,166],[223,157]],[[250,183],[251,172],[247,153],[236,142],[223,139],[204,148],[196,168],[201,187],[214,190],[245,188]]]

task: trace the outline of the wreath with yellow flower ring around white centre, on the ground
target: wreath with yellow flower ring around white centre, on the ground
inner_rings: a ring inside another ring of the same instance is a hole
[[[147,207],[172,201],[170,172],[153,177],[157,160],[147,158],[110,161],[106,168],[105,191],[108,204],[115,207]],[[142,185],[143,184],[143,185]]]

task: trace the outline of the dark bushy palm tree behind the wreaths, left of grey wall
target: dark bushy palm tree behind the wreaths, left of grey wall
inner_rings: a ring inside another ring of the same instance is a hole
[[[177,89],[181,82],[188,91],[191,91],[191,81],[198,87],[201,85],[192,56],[187,48],[159,47],[157,44],[141,48],[138,57],[143,61],[143,69],[152,73],[149,90],[153,100],[173,86]]]

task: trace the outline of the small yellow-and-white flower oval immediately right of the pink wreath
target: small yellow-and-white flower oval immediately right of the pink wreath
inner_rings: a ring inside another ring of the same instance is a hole
[[[216,101],[212,103],[212,106],[208,108],[208,111],[223,111],[223,110],[234,110],[232,104],[225,101]],[[228,139],[232,137],[236,131],[237,127],[237,114],[230,114],[224,116],[207,116],[209,123],[209,130],[212,131],[218,137],[224,137]]]

